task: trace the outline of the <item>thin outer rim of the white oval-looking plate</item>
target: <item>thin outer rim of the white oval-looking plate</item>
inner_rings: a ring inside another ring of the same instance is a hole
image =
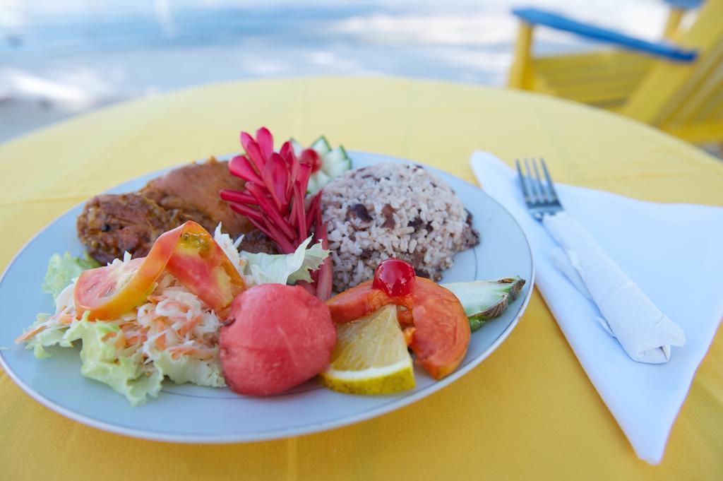
[[[192,434],[171,434],[171,433],[158,433],[154,431],[149,430],[139,430],[132,427],[124,427],[122,425],[113,424],[111,422],[103,421],[95,419],[94,417],[87,416],[85,414],[81,414],[79,412],[75,412],[72,409],[68,409],[64,406],[61,406],[60,404],[57,404],[52,399],[49,399],[47,396],[43,396],[42,394],[38,393],[37,391],[33,390],[30,386],[28,386],[21,378],[17,376],[16,373],[12,369],[10,369],[9,365],[7,365],[7,362],[4,359],[3,351],[0,350],[0,365],[3,367],[5,373],[9,376],[12,381],[19,386],[22,391],[24,391],[28,396],[30,396],[32,399],[35,399],[35,401],[38,401],[43,406],[46,406],[48,409],[51,409],[51,411],[54,411],[58,414],[63,415],[64,417],[69,418],[70,420],[74,420],[76,422],[80,422],[82,425],[86,425],[89,427],[93,427],[95,429],[104,430],[109,433],[119,434],[119,435],[126,435],[131,438],[137,438],[137,439],[144,439],[144,440],[154,440],[154,441],[161,441],[166,443],[181,443],[181,444],[229,444],[229,443],[252,443],[252,442],[258,442],[258,441],[265,441],[265,440],[278,440],[278,439],[284,439],[284,438],[292,438],[299,435],[310,435],[314,433],[321,433],[328,430],[334,430],[339,427],[344,427],[348,425],[356,424],[357,422],[362,422],[366,420],[371,420],[375,417],[380,417],[384,414],[388,414],[390,412],[393,412],[397,409],[401,409],[403,407],[409,406],[410,404],[415,403],[416,401],[419,401],[420,399],[424,399],[427,396],[432,395],[433,393],[436,393],[437,391],[440,391],[442,388],[445,388],[450,383],[453,383],[455,380],[458,380],[459,378],[462,378],[464,375],[469,373],[471,370],[473,370],[475,367],[477,367],[479,364],[484,361],[484,359],[487,359],[490,354],[495,352],[497,348],[502,344],[505,339],[508,338],[510,333],[513,331],[513,329],[517,326],[520,319],[522,318],[524,312],[527,309],[527,306],[529,305],[530,299],[532,297],[532,293],[534,291],[534,281],[535,281],[535,273],[536,273],[536,265],[534,256],[532,255],[532,249],[529,242],[529,239],[527,235],[525,234],[525,231],[522,229],[522,226],[518,223],[517,219],[510,213],[510,211],[505,208],[504,205],[502,205],[500,202],[498,202],[494,197],[487,194],[487,192],[484,192],[484,190],[480,189],[478,186],[472,184],[471,182],[466,181],[465,179],[461,179],[458,176],[455,176],[453,174],[450,174],[449,172],[443,171],[442,169],[437,169],[434,166],[429,166],[422,162],[416,162],[411,161],[410,159],[401,158],[401,157],[395,157],[395,156],[389,156],[387,154],[383,153],[375,153],[375,152],[369,152],[369,151],[361,151],[361,150],[349,150],[349,154],[351,154],[352,158],[354,154],[361,154],[361,156],[375,156],[375,157],[382,157],[382,158],[388,158],[393,159],[395,161],[401,162],[401,163],[412,163],[420,166],[424,166],[425,169],[429,169],[430,171],[435,172],[435,174],[443,174],[445,176],[452,176],[457,181],[463,182],[464,184],[467,184],[469,187],[472,187],[477,192],[481,193],[485,197],[487,197],[489,200],[492,200],[493,203],[497,204],[498,207],[501,208],[502,212],[504,212],[512,221],[513,223],[518,227],[519,231],[521,232],[523,239],[525,240],[525,244],[527,247],[527,250],[529,252],[529,258],[530,258],[530,268],[531,268],[531,278],[529,279],[529,289],[527,290],[526,296],[522,299],[521,305],[518,309],[518,312],[515,315],[515,318],[510,321],[510,324],[500,333],[499,336],[495,339],[495,341],[490,344],[487,349],[484,349],[484,351],[479,354],[478,356],[474,357],[473,359],[470,359],[470,361],[463,365],[462,367],[459,367],[457,370],[455,370],[455,376],[448,376],[447,378],[444,378],[442,380],[437,380],[435,383],[431,384],[430,386],[427,386],[427,388],[424,388],[421,391],[417,391],[415,393],[411,393],[408,396],[404,396],[402,398],[393,399],[388,401],[385,404],[381,404],[380,406],[376,406],[375,408],[368,409],[365,412],[361,412],[359,414],[351,414],[346,415],[341,418],[338,418],[336,420],[329,420],[329,421],[323,421],[323,422],[312,422],[307,425],[299,425],[296,427],[283,427],[283,428],[275,428],[273,430],[268,431],[257,431],[256,433],[248,433],[248,434],[239,434],[239,433],[231,433],[228,435],[192,435]],[[238,153],[232,153],[228,155],[223,156],[214,156],[218,160],[227,160],[230,159],[233,156],[238,155]],[[196,162],[205,161],[208,159],[202,159]],[[179,164],[179,166],[187,165],[187,163]],[[165,169],[158,169],[156,171],[148,172],[147,174],[140,174],[139,176],[134,177],[134,179],[128,179],[125,182],[120,182],[119,184],[116,184],[114,187],[110,187],[108,190],[100,192],[100,193],[107,193],[110,192],[117,187],[121,186],[122,184],[125,184],[127,182],[133,182],[135,179],[138,179],[138,177],[142,176],[153,176],[155,174],[163,174],[166,171],[169,171],[171,169],[176,169],[179,166],[171,166],[167,167]],[[100,194],[99,193],[99,194]],[[72,208],[69,208],[68,210],[65,210],[63,213],[59,214],[55,218],[53,218],[51,221],[48,222],[45,226],[43,226],[42,229],[40,229],[38,232],[36,232],[30,239],[27,239],[25,244],[20,247],[20,250],[18,250],[15,255],[11,258],[7,266],[4,268],[2,275],[0,275],[0,286],[2,285],[3,281],[5,281],[5,277],[7,273],[9,272],[12,265],[16,262],[17,258],[20,257],[22,252],[27,249],[27,247],[35,241],[38,237],[40,237],[41,234],[43,234],[46,229],[48,229],[51,225],[55,224],[56,221],[59,221],[60,218],[63,218],[64,216],[67,216],[72,210],[75,210],[80,205],[84,205],[85,202],[81,202],[77,205],[74,205]]]

